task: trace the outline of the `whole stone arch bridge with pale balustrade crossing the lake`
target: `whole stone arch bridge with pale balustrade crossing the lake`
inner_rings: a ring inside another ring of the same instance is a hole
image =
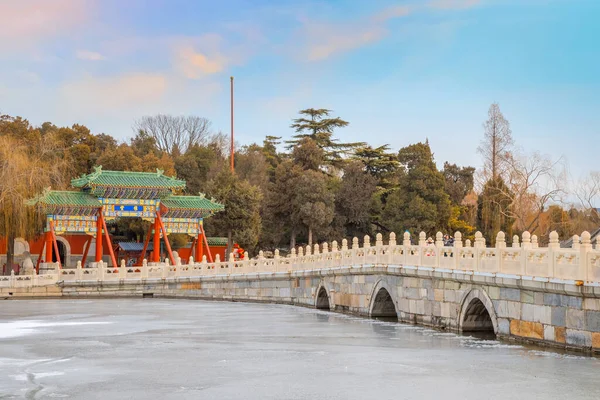
[[[301,249],[289,257],[142,267],[56,270],[54,274],[0,277],[3,297],[140,296],[271,302],[402,322],[454,332],[486,331],[500,338],[600,352],[600,243],[584,232],[572,248],[558,235],[546,248],[523,234],[496,247],[480,234],[472,246],[455,234],[452,247],[402,244],[392,234],[374,245],[344,240]]]

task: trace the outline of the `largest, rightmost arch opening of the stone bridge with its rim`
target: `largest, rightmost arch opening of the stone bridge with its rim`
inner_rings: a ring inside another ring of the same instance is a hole
[[[480,288],[471,289],[460,303],[460,332],[490,332],[498,334],[498,317],[494,303]]]

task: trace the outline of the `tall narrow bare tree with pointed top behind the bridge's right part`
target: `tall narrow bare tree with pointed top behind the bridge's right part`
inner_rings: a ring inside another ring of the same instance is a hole
[[[510,124],[494,103],[488,111],[488,120],[483,124],[484,137],[477,151],[483,157],[483,173],[485,180],[505,178],[513,145]]]

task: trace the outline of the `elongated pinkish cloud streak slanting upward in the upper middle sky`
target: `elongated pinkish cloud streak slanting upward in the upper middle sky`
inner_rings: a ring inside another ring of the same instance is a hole
[[[378,42],[388,34],[386,22],[411,12],[409,7],[396,6],[360,21],[340,24],[304,21],[301,33],[305,41],[304,56],[309,61],[320,61]]]

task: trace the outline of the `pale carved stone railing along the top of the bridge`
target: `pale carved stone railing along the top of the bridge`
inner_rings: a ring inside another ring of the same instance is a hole
[[[170,265],[168,259],[164,263],[147,263],[143,265],[125,266],[121,262],[119,268],[108,267],[100,262],[92,268],[55,268],[47,273],[28,276],[0,277],[0,287],[32,287],[56,284],[68,281],[114,282],[121,280],[147,280],[189,278],[211,275],[255,274],[255,273],[288,273],[293,271],[319,270],[340,267],[356,267],[363,265],[400,266],[407,268],[436,269],[447,271],[464,271],[466,273],[501,274],[520,276],[544,281],[575,281],[579,284],[600,283],[600,239],[596,239],[596,248],[591,244],[590,234],[583,232],[581,238],[574,236],[572,248],[560,248],[558,234],[552,232],[548,247],[540,248],[538,239],[529,232],[522,237],[514,236],[510,246],[506,243],[505,234],[499,232],[496,246],[486,247],[485,239],[480,232],[475,234],[475,241],[462,241],[460,232],[454,235],[454,244],[444,246],[442,233],[437,233],[435,242],[430,242],[426,234],[421,232],[417,244],[413,244],[409,233],[405,233],[402,243],[396,242],[396,235],[391,233],[386,244],[378,234],[372,244],[369,236],[365,236],[363,245],[358,238],[352,240],[349,247],[346,239],[341,246],[337,242],[314,245],[312,248],[292,250],[287,257],[280,257],[275,250],[273,258],[265,258],[261,251],[257,258],[249,259],[244,255],[242,260],[234,260],[230,254],[229,261],[221,261],[217,255],[215,262],[208,263],[206,257],[201,262],[190,258],[187,264],[176,259],[176,265]]]

